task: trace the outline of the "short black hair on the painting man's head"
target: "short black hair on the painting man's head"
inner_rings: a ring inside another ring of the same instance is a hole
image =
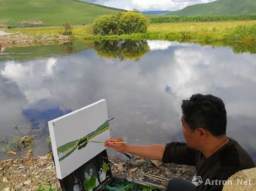
[[[194,94],[182,100],[183,119],[192,131],[201,127],[218,137],[226,134],[227,111],[223,101],[213,95]]]

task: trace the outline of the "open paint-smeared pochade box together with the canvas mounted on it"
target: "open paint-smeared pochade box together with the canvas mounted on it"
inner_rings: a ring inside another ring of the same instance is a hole
[[[106,100],[51,120],[48,126],[63,191],[163,191],[152,183],[112,176],[106,148],[99,143],[110,138]]]

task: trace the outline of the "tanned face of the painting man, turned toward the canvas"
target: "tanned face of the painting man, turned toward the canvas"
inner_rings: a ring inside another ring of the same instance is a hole
[[[182,127],[183,127],[183,134],[184,134],[184,138],[187,142],[187,145],[189,148],[193,148],[196,149],[196,136],[195,136],[195,132],[192,132],[189,125],[185,122],[185,120],[183,119],[183,115],[181,116],[181,122],[182,122]]]

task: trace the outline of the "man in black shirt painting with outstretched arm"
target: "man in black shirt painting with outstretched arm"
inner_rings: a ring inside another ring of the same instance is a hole
[[[255,167],[250,155],[236,140],[227,137],[227,113],[220,98],[194,94],[183,100],[181,108],[186,143],[140,146],[112,143],[122,139],[111,138],[105,141],[105,147],[165,163],[195,165],[197,176],[202,179],[200,185],[196,187],[181,178],[173,178],[168,191],[221,191],[224,180],[231,175]]]

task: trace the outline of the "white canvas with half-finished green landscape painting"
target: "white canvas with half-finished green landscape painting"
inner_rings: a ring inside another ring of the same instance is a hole
[[[106,100],[48,122],[58,179],[63,179],[102,152],[110,138]]]

